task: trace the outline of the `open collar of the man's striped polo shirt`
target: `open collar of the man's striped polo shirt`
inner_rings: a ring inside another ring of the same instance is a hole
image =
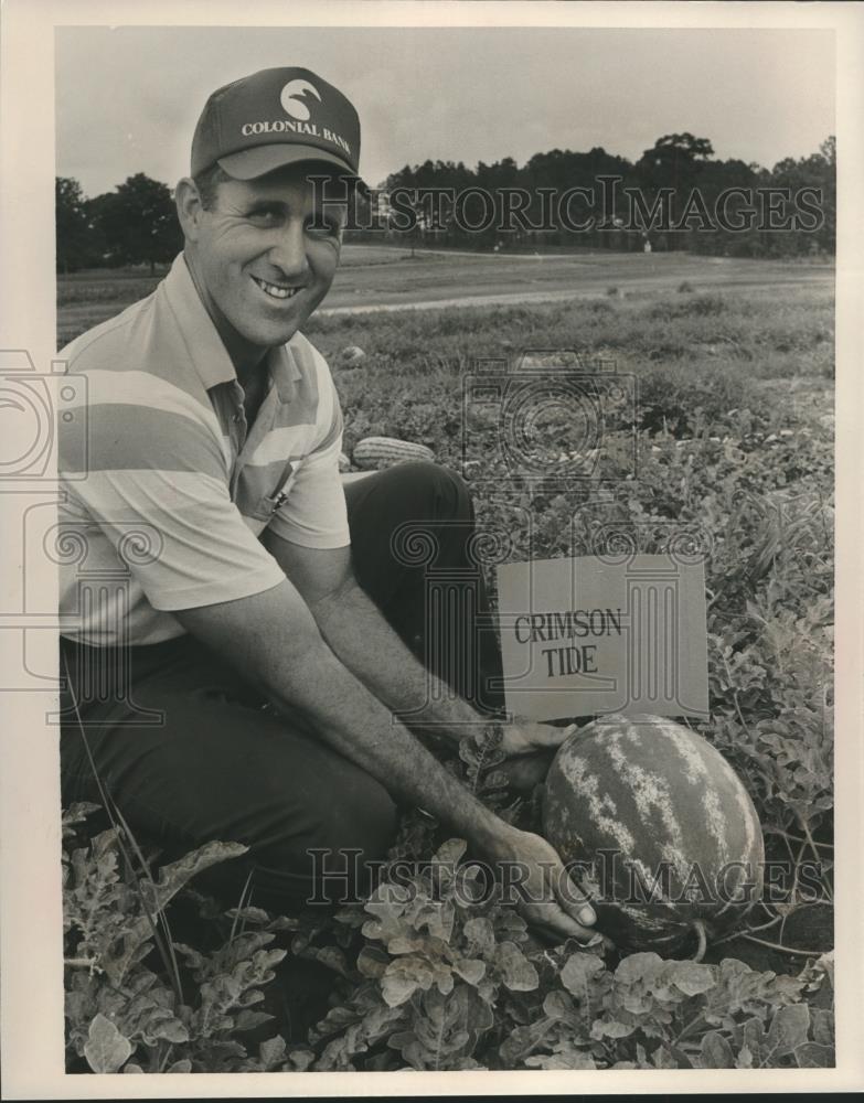
[[[213,319],[206,311],[189,270],[185,256],[180,253],[163,281],[164,293],[183,336],[186,352],[204,388],[236,381],[237,373],[228,356]],[[270,349],[267,367],[281,403],[294,398],[295,381],[302,372],[295,358],[290,342]]]

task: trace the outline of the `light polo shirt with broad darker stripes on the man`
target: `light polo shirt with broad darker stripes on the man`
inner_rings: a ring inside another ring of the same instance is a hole
[[[60,358],[86,378],[85,447],[58,424],[63,635],[159,643],[185,631],[172,610],[277,586],[285,575],[258,539],[265,528],[309,548],[350,543],[327,362],[299,333],[271,349],[248,427],[182,254],[152,295]]]

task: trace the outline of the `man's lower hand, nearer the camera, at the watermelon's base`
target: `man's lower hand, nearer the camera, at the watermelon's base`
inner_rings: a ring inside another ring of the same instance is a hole
[[[591,930],[597,915],[544,838],[510,827],[492,848],[504,886],[518,893],[520,914],[531,928],[556,942],[574,938],[583,944],[611,942]],[[505,899],[508,899],[505,895]]]

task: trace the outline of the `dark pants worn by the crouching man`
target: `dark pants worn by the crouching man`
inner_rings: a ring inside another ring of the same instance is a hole
[[[483,711],[500,708],[500,690],[484,685],[501,665],[470,554],[473,510],[462,480],[406,463],[350,483],[345,497],[361,586],[454,692]],[[118,673],[120,657],[63,640],[61,675],[68,671],[105,790],[132,832],[161,848],[161,863],[213,839],[246,844],[245,856],[198,879],[226,904],[237,902],[249,870],[252,902],[276,911],[367,890],[363,861],[384,858],[396,826],[381,782],[299,714],[263,709],[191,636],[129,649],[128,675]],[[128,692],[118,692],[121,676]],[[63,704],[71,705],[68,689]],[[142,722],[148,710],[163,719]],[[61,772],[65,806],[100,803],[72,719],[62,728]]]

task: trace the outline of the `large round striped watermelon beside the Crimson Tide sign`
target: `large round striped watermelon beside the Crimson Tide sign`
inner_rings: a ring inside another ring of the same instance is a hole
[[[601,717],[558,749],[543,834],[591,896],[597,929],[668,956],[740,923],[759,899],[765,850],[725,758],[659,716]]]

